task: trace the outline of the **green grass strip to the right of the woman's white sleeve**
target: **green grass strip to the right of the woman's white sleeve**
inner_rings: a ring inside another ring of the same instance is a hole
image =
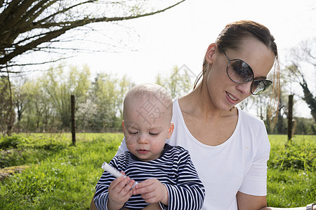
[[[270,135],[268,205],[305,207],[316,200],[316,136]]]

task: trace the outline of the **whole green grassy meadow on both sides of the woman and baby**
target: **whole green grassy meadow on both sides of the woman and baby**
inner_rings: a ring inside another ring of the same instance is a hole
[[[27,166],[0,181],[0,209],[89,209],[101,165],[117,152],[122,134],[15,134],[0,138],[0,169]],[[316,136],[270,135],[268,205],[315,202]]]

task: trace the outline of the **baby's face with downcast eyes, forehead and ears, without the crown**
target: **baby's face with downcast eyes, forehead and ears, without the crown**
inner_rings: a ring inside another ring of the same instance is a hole
[[[162,154],[167,138],[171,137],[171,106],[158,100],[135,99],[124,107],[123,130],[126,146],[138,159],[155,160]]]

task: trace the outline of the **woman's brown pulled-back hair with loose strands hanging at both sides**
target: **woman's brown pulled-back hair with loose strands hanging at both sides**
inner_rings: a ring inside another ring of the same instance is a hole
[[[242,44],[245,38],[254,37],[261,41],[268,49],[270,49],[275,54],[275,65],[274,65],[274,74],[273,74],[273,85],[272,85],[272,96],[270,100],[270,108],[272,106],[272,110],[277,109],[279,105],[279,57],[277,53],[277,45],[275,43],[275,38],[270,34],[270,31],[267,27],[259,24],[258,22],[254,22],[251,20],[241,20],[237,22],[232,22],[226,25],[225,29],[220,32],[218,38],[216,38],[216,43],[220,45],[218,48],[218,52],[223,52],[228,48],[237,50],[239,46]],[[193,89],[197,86],[199,79],[204,76],[206,69],[208,67],[208,63],[204,58],[202,72],[199,73],[197,79],[195,80],[195,84]],[[271,104],[272,99],[273,105]],[[269,116],[271,114],[271,109]]]

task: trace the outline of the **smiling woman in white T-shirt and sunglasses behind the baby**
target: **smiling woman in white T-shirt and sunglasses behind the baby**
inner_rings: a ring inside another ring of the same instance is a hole
[[[266,27],[252,21],[228,24],[206,51],[202,81],[197,84],[197,78],[194,90],[173,103],[174,132],[167,143],[190,152],[206,189],[202,209],[271,209],[265,125],[235,105],[272,84],[267,75],[274,64],[272,86],[278,89],[277,61],[277,45]],[[118,153],[123,151],[125,141]]]

